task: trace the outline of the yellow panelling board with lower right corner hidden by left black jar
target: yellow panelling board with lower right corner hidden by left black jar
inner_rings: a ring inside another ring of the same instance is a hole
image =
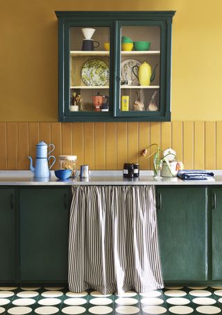
[[[117,122],[117,170],[127,161],[127,122]]]

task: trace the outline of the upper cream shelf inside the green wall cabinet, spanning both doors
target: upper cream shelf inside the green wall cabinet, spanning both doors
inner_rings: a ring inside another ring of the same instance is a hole
[[[91,57],[91,56],[109,56],[110,51],[82,51],[71,50],[70,56],[72,57]],[[121,56],[144,56],[144,55],[160,55],[160,50],[146,50],[146,51],[121,51]]]

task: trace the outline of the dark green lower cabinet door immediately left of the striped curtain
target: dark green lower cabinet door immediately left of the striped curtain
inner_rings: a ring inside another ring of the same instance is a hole
[[[69,189],[21,188],[21,282],[67,282]]]

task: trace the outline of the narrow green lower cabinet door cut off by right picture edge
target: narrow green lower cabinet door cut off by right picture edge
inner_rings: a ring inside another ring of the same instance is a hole
[[[212,280],[222,280],[222,188],[212,189]]]

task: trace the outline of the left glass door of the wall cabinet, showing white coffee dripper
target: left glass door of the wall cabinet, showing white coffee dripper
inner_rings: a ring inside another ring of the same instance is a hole
[[[112,115],[110,26],[67,24],[66,38],[65,115]]]

